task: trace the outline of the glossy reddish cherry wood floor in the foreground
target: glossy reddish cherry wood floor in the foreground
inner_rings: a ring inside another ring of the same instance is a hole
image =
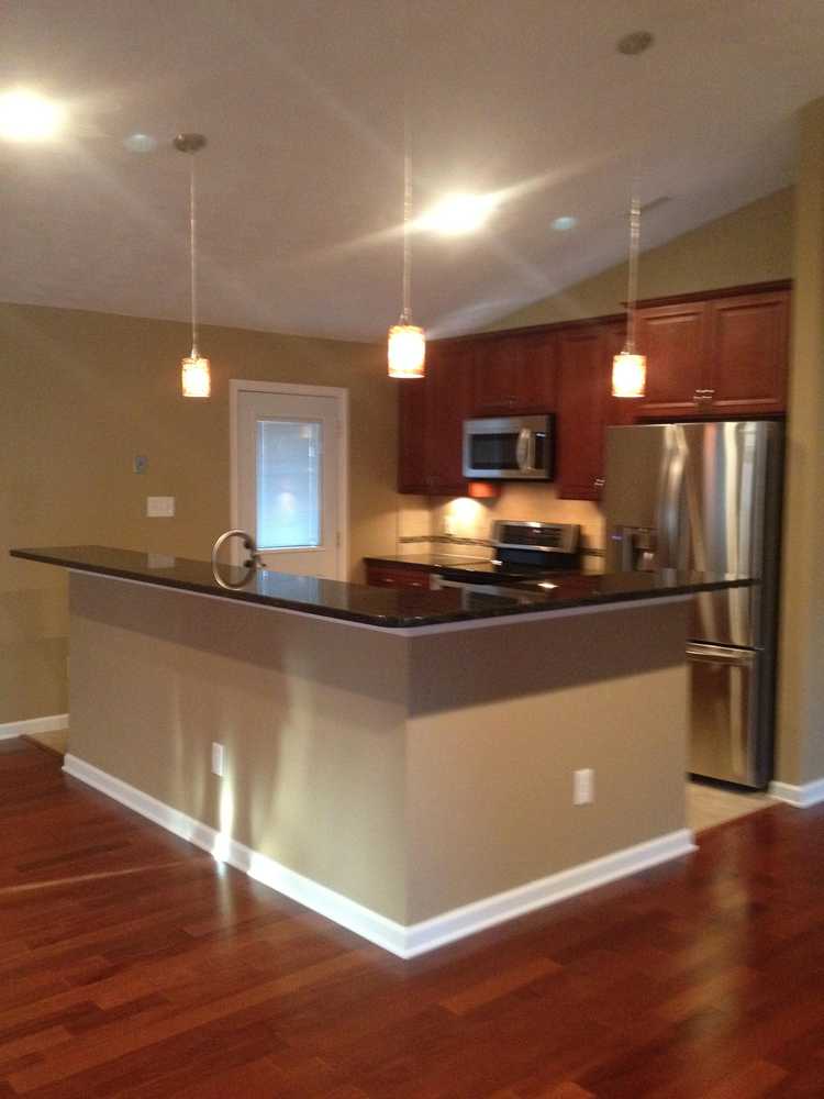
[[[824,812],[401,962],[0,743],[0,1099],[824,1096]]]

